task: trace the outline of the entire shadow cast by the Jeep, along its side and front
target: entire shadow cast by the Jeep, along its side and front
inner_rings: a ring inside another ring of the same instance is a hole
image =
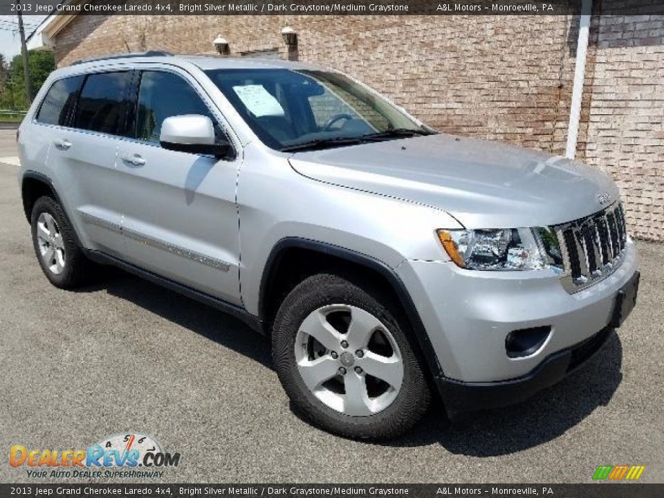
[[[186,327],[273,369],[270,344],[240,320],[124,271],[109,268],[99,284],[77,292],[107,291]],[[454,423],[434,401],[425,418],[398,439],[379,445],[414,447],[440,444],[453,454],[495,457],[533,448],[561,436],[605,406],[623,379],[623,347],[618,334],[578,371],[532,398],[501,409],[466,414]],[[291,405],[295,416],[302,418]]]

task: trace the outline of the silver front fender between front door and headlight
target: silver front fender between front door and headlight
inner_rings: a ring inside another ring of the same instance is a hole
[[[306,178],[285,154],[252,144],[239,172],[237,206],[242,302],[255,315],[264,268],[282,239],[337,246],[394,269],[404,259],[449,261],[436,230],[463,228],[436,208]]]

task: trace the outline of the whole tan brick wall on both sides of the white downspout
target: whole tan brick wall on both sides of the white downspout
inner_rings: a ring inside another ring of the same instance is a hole
[[[662,19],[615,19],[593,17],[578,157],[618,181],[635,234],[664,240]],[[286,57],[284,26],[299,59],[358,77],[441,131],[564,154],[577,17],[82,16],[55,55],[214,53],[221,34],[232,55]]]

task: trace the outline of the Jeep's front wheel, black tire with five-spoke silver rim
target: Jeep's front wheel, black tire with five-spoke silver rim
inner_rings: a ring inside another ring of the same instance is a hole
[[[378,289],[314,275],[277,312],[275,369],[293,405],[314,425],[353,439],[394,438],[430,403],[407,331],[398,307]]]

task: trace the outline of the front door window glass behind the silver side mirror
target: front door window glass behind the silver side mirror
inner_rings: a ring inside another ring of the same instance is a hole
[[[210,109],[187,81],[174,73],[144,71],[138,91],[136,138],[159,143],[164,120],[184,114],[208,116],[214,124],[216,137],[223,138],[223,132]]]

